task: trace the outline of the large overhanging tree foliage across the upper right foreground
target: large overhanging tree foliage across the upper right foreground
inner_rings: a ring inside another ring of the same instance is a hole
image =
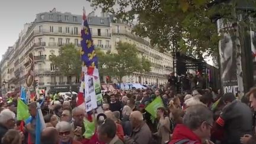
[[[87,1],[91,2],[92,7],[115,15],[118,20],[131,21],[136,18],[136,34],[149,37],[152,46],[161,50],[175,47],[177,51],[197,55],[217,52],[220,37],[213,19],[216,15],[230,18],[232,7],[238,2],[231,0],[216,5],[213,0]]]

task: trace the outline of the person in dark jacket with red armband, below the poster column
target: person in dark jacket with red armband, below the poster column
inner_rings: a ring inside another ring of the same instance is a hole
[[[214,128],[217,130],[222,127],[225,136],[222,137],[222,143],[240,144],[240,137],[252,133],[252,111],[248,105],[236,100],[233,93],[224,94],[220,100],[225,107]]]

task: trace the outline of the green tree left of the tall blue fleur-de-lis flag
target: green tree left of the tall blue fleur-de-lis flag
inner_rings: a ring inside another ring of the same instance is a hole
[[[62,75],[70,76],[81,74],[82,62],[79,50],[73,44],[66,44],[60,47],[59,55],[50,57],[50,61],[58,68]]]

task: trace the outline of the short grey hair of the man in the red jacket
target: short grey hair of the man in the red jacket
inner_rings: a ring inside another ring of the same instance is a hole
[[[206,121],[209,124],[213,123],[213,113],[205,105],[192,105],[186,109],[183,117],[183,124],[191,130],[196,130],[201,123]]]

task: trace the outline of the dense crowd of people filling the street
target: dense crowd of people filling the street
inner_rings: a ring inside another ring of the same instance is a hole
[[[163,105],[155,108],[154,119],[145,109],[156,98],[161,98]],[[256,88],[242,100],[231,93],[215,94],[211,88],[187,94],[177,94],[171,87],[117,89],[103,95],[99,108],[102,113],[86,113],[76,107],[76,97],[71,101],[43,100],[41,111],[46,128],[41,132],[41,144],[256,143]],[[36,101],[28,104],[31,116],[24,121],[24,129],[23,121],[16,120],[15,98],[11,103],[1,103],[0,111],[2,144],[36,143]],[[90,136],[85,120],[95,122]]]

